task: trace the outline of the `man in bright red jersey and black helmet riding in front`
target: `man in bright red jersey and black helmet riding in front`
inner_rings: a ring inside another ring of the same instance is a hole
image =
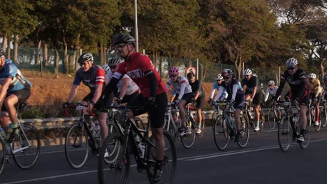
[[[124,62],[119,64],[112,79],[106,86],[103,93],[103,101],[110,103],[110,93],[115,89],[116,84],[124,74],[129,75],[140,88],[141,93],[138,98],[130,100],[127,104],[131,106],[147,106],[145,110],[150,114],[152,133],[157,145],[157,167],[151,180],[152,183],[157,183],[161,179],[161,164],[163,162],[165,146],[162,127],[168,103],[167,89],[150,58],[144,54],[134,52],[135,39],[132,36],[120,33],[115,38],[114,44],[117,54],[124,58]],[[130,117],[138,116],[140,113],[133,111]]]

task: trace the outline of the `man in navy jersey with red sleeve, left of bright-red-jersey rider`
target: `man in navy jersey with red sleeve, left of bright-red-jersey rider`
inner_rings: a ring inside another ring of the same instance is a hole
[[[93,56],[91,53],[80,55],[78,63],[80,63],[80,69],[76,72],[68,100],[62,107],[66,108],[73,101],[80,87],[80,82],[83,82],[85,86],[89,87],[90,93],[83,98],[82,104],[87,105],[87,103],[89,103],[89,112],[92,112],[95,103],[99,100],[103,91],[105,72],[101,66],[93,63]],[[90,118],[87,119],[87,122],[90,123],[92,127],[95,126],[94,123],[91,123]],[[99,122],[96,123],[99,125]]]

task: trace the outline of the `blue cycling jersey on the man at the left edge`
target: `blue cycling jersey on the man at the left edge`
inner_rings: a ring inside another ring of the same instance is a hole
[[[7,78],[12,79],[7,90],[8,95],[21,89],[31,88],[31,82],[29,82],[22,75],[22,72],[20,72],[20,70],[8,59],[6,59],[6,64],[0,72],[0,84],[3,85]]]

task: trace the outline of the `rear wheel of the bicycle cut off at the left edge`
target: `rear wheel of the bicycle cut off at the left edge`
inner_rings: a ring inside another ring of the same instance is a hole
[[[40,153],[40,144],[40,137],[34,126],[22,125],[18,138],[13,141],[13,151],[21,149],[13,155],[20,169],[29,169],[36,163]]]

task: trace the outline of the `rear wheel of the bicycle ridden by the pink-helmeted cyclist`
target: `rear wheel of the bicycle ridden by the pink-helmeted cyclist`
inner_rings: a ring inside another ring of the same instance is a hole
[[[191,116],[186,116],[185,122],[185,131],[181,133],[181,141],[185,148],[191,148],[194,144],[195,137],[196,137],[196,123]]]

